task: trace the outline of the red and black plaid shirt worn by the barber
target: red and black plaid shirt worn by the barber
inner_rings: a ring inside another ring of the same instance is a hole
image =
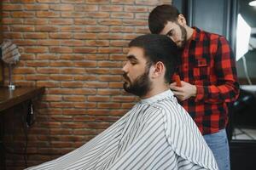
[[[236,62],[225,37],[194,28],[178,65],[184,82],[197,88],[195,97],[180,102],[202,134],[217,133],[228,122],[226,103],[236,100]]]

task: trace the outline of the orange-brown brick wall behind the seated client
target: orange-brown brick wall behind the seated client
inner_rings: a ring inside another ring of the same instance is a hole
[[[78,148],[134,105],[122,88],[127,43],[171,1],[2,0],[3,38],[21,54],[15,85],[46,87],[28,129],[28,166]],[[23,168],[23,156],[8,155],[8,166]]]

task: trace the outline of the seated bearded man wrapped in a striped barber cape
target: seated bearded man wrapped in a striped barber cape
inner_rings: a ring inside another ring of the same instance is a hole
[[[218,169],[195,122],[169,89],[177,57],[176,44],[166,36],[132,40],[124,88],[141,100],[79,149],[28,169]]]

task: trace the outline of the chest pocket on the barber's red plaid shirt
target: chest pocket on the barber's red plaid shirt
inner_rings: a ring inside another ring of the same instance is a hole
[[[193,76],[195,79],[195,85],[207,85],[210,83],[210,64],[207,62],[207,59],[195,59]]]

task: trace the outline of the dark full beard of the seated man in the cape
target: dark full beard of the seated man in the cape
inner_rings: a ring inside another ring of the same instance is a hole
[[[124,89],[130,94],[135,94],[139,97],[143,97],[148,94],[148,91],[151,89],[151,84],[148,78],[149,69],[143,73],[143,75],[137,77],[134,82],[131,82],[130,78],[127,77],[127,74],[124,73],[123,77],[126,81],[124,82]]]

